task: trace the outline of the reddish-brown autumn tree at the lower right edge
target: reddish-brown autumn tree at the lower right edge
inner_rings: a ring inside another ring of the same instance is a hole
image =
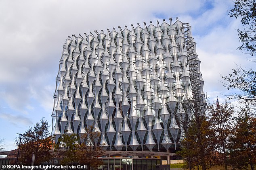
[[[238,169],[247,169],[249,164],[251,170],[254,170],[256,164],[256,118],[250,109],[242,108],[236,122],[228,147],[230,150],[229,163],[233,168]]]

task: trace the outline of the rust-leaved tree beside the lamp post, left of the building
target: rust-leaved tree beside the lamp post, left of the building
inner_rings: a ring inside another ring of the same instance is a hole
[[[32,154],[35,154],[35,164],[51,160],[52,136],[48,128],[48,122],[42,118],[33,129],[29,127],[29,130],[22,134],[19,162],[31,164]],[[16,139],[16,145],[19,145],[19,139]]]

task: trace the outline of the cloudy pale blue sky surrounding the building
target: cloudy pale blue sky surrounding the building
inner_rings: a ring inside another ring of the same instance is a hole
[[[204,92],[220,103],[232,92],[222,76],[232,68],[254,68],[240,45],[239,19],[230,18],[233,0],[0,0],[0,139],[13,150],[16,133],[42,117],[51,125],[53,94],[62,48],[72,34],[176,17],[192,26],[201,60]],[[117,29],[118,30],[118,29]],[[51,125],[52,126],[52,125]],[[51,127],[50,127],[51,129]]]

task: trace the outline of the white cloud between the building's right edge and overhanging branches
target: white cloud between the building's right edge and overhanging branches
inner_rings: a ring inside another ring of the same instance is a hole
[[[242,68],[254,67],[254,63],[248,60],[250,56],[236,50],[239,46],[237,32],[237,20],[233,20],[227,27],[217,27],[206,36],[195,37],[197,39],[197,53],[201,60],[201,72],[205,80],[205,90],[227,91],[220,82],[220,75],[227,76],[232,73],[232,68],[237,65]],[[229,93],[229,92],[227,92]]]

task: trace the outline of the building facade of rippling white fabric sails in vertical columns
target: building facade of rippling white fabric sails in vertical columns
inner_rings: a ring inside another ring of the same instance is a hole
[[[170,20],[94,32],[63,46],[52,134],[81,135],[93,125],[106,150],[176,149],[180,120],[190,116],[181,102],[193,85],[204,93],[191,27]]]

